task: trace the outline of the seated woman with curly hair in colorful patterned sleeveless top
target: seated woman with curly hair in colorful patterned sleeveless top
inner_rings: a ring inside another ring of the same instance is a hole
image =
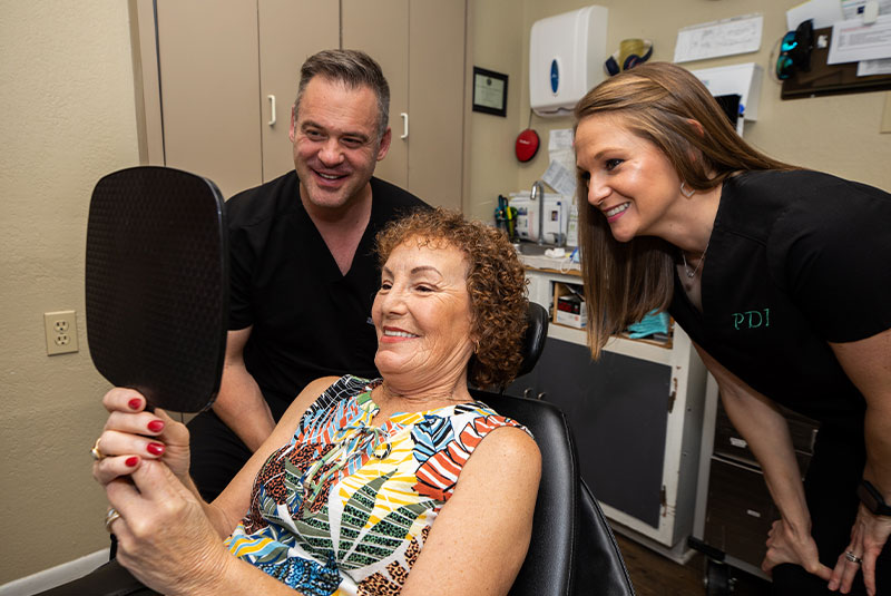
[[[378,250],[381,379],[311,383],[213,504],[189,479],[186,428],[136,391],[105,395],[94,476],[118,559],[143,583],[168,595],[507,594],[540,457],[468,381],[503,384],[519,368],[522,267],[497,231],[442,209],[392,224]]]

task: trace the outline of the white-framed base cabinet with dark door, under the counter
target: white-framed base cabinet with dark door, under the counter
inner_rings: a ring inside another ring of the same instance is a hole
[[[577,272],[527,270],[529,297],[550,307]],[[536,370],[508,388],[569,418],[581,476],[620,531],[683,560],[693,529],[706,373],[675,326],[668,344],[614,338],[597,362],[586,332],[551,322]]]

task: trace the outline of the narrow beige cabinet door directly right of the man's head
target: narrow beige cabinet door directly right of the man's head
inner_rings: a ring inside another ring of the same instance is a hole
[[[374,175],[411,190],[409,140],[399,138],[400,114],[409,113],[409,0],[341,0],[341,40],[344,49],[362,50],[374,58],[390,85],[393,139]]]

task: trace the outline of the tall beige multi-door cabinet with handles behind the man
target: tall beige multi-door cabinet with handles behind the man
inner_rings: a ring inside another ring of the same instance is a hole
[[[293,168],[287,134],[304,59],[362,49],[392,92],[393,143],[375,175],[460,208],[463,0],[135,2],[144,123],[154,121],[153,106],[159,114],[143,129],[159,138],[160,155],[145,162],[206,176],[227,197],[284,174]]]

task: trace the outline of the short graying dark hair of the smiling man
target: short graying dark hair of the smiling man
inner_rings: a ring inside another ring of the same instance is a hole
[[[374,91],[378,97],[378,140],[383,138],[390,121],[390,86],[380,65],[371,56],[360,50],[322,50],[310,56],[300,69],[295,114],[300,114],[303,91],[315,76],[343,82],[350,89],[369,87]]]

